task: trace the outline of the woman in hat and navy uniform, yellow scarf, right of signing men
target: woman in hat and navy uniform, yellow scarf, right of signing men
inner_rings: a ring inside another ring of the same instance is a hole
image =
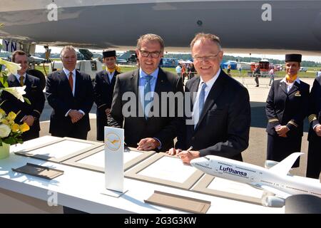
[[[266,100],[267,160],[280,162],[301,150],[310,86],[297,77],[302,56],[285,55],[285,78],[272,83]],[[298,167],[298,159],[293,167]]]

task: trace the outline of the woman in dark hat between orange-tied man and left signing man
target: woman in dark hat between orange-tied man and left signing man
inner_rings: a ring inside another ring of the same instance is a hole
[[[93,87],[97,105],[97,140],[100,141],[103,140],[103,128],[107,126],[107,115],[111,112],[116,76],[120,73],[116,67],[116,51],[103,51],[103,63],[105,63],[106,70],[96,73]]]

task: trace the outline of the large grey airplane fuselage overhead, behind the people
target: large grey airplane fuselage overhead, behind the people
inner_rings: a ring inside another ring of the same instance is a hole
[[[321,50],[319,0],[16,0],[1,3],[0,24],[0,38],[25,48],[125,48],[136,46],[144,33],[156,33],[165,51],[189,51],[195,33],[205,32],[218,35],[225,51],[234,53]]]

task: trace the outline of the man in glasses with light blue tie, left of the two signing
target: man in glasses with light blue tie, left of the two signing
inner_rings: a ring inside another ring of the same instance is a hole
[[[183,95],[183,83],[178,76],[158,68],[163,51],[160,36],[141,36],[136,48],[140,68],[116,77],[108,125],[124,128],[126,144],[131,147],[138,145],[138,150],[168,150],[173,147],[176,137],[178,104],[175,103],[172,109],[168,104],[164,113],[165,108],[161,105],[166,104],[167,99],[161,93],[180,92]],[[132,99],[126,98],[127,95]],[[170,111],[173,116],[168,114]]]

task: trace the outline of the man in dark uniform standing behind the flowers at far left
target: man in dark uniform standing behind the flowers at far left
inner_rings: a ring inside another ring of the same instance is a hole
[[[39,138],[39,118],[44,109],[45,97],[41,90],[40,80],[34,76],[26,74],[28,70],[28,57],[24,51],[15,51],[12,54],[12,61],[18,63],[21,69],[16,75],[9,75],[7,78],[9,87],[26,86],[24,95],[28,98],[30,103],[22,102],[14,97],[11,93],[3,91],[1,94],[2,105],[1,108],[9,113],[13,111],[17,113],[16,120],[20,123],[29,125],[29,130],[21,135],[22,140],[32,140]]]

